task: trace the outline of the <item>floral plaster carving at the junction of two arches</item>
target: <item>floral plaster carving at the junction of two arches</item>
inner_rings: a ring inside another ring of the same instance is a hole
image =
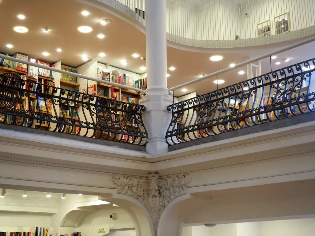
[[[185,194],[188,175],[160,177],[150,173],[148,177],[115,177],[110,180],[117,186],[117,193],[137,199],[152,217],[155,232],[165,207],[176,197]]]

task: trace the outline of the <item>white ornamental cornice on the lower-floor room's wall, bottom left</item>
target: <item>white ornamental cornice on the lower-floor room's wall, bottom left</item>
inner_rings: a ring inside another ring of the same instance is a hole
[[[5,196],[0,198],[0,205],[14,205],[14,206],[31,206],[31,207],[45,207],[45,208],[56,208],[58,207],[58,201],[53,199],[43,198],[21,198],[20,196]]]

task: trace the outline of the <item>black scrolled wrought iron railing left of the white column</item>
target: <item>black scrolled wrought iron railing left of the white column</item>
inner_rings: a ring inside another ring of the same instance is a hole
[[[0,75],[0,123],[144,145],[145,107]]]

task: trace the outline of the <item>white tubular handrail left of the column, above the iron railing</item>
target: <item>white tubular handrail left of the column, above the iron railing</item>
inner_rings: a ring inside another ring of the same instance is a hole
[[[136,92],[140,92],[140,93],[144,93],[144,92],[145,92],[145,90],[140,89],[140,88],[133,88],[133,87],[129,87],[129,86],[127,86],[127,85],[122,85],[122,84],[118,84],[118,83],[113,83],[113,82],[109,82],[109,81],[105,81],[105,80],[100,80],[100,79],[97,79],[97,78],[94,78],[94,77],[91,77],[91,76],[85,76],[85,75],[73,73],[73,72],[66,71],[66,70],[56,69],[56,68],[54,68],[54,67],[45,66],[45,65],[41,65],[41,64],[34,63],[34,62],[30,62],[30,61],[26,61],[26,60],[22,60],[22,59],[17,59],[17,58],[9,57],[9,56],[3,55],[3,54],[0,54],[0,58],[8,59],[8,60],[10,60],[10,61],[15,61],[15,62],[19,62],[19,63],[23,63],[23,64],[26,64],[26,65],[36,66],[36,67],[43,68],[43,69],[46,69],[46,70],[52,70],[52,71],[54,71],[54,72],[59,72],[59,73],[61,73],[61,74],[76,76],[76,77],[79,77],[79,78],[83,78],[83,79],[87,79],[87,80],[92,80],[92,81],[100,82],[100,83],[103,83],[103,84],[108,84],[108,85],[112,85],[112,86],[117,86],[117,87],[129,89],[129,90],[133,90],[133,91],[136,91]]]

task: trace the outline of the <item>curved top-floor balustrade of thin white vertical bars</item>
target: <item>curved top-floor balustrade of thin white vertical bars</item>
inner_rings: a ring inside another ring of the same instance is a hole
[[[146,25],[146,0],[97,0]],[[233,48],[315,33],[314,0],[166,0],[167,39]]]

